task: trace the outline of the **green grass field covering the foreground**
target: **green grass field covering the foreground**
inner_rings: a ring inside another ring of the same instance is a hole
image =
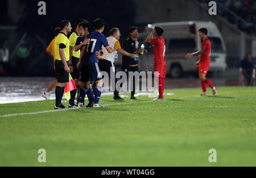
[[[165,92],[175,95],[102,96],[105,108],[57,112],[48,112],[54,100],[0,104],[0,166],[256,166],[255,87],[219,87],[216,98],[199,97],[200,88]]]

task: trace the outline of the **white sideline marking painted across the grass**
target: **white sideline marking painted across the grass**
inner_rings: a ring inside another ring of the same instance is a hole
[[[233,92],[242,92],[242,91],[255,91],[255,90],[241,90],[241,91],[229,91],[229,92],[223,92],[221,94],[232,94]],[[181,96],[178,99],[184,99],[184,98],[193,98],[193,97],[200,97],[199,95],[194,96]],[[218,97],[216,97],[218,98]],[[135,103],[149,103],[152,102],[152,100],[148,101],[140,101],[140,102],[131,102],[131,103],[115,103],[115,104],[105,104],[104,106],[111,106],[111,105],[123,105],[123,104],[135,104]],[[49,111],[39,111],[39,112],[28,112],[28,113],[18,113],[18,114],[10,114],[10,115],[2,115],[0,117],[11,117],[11,116],[23,116],[23,115],[36,115],[41,113],[51,113],[51,112],[60,112],[60,111],[71,111],[73,109],[85,109],[85,108],[71,108],[71,109],[57,109],[57,110],[49,110]]]

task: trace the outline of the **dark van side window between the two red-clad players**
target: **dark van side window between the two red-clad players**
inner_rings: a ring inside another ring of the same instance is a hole
[[[195,39],[171,39],[169,42],[170,51],[183,51],[196,49]]]

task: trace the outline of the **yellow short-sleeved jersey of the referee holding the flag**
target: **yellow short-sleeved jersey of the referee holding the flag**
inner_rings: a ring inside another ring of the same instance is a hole
[[[60,58],[60,48],[65,49],[64,54],[66,61],[69,61],[69,45],[70,42],[68,40],[67,35],[65,33],[60,32],[60,34],[56,37],[55,43],[54,43],[54,50],[55,50],[55,59],[61,61]]]

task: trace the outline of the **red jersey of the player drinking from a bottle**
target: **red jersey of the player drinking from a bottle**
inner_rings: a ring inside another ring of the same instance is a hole
[[[163,37],[158,37],[151,40],[151,44],[154,45],[154,62],[155,63],[166,63],[166,41]]]

